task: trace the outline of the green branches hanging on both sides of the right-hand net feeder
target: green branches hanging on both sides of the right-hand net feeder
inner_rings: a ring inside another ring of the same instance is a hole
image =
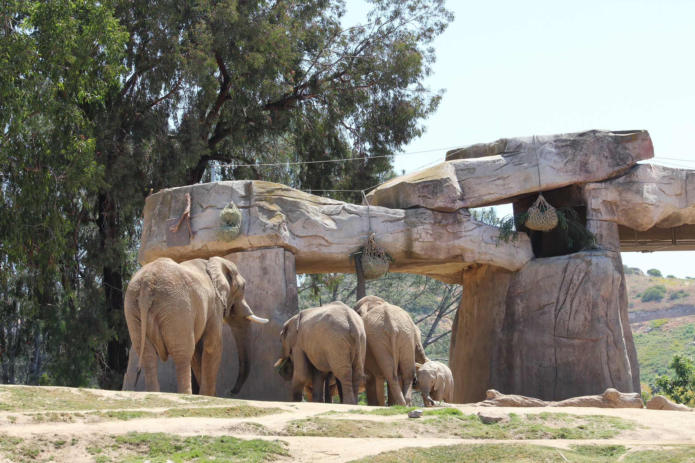
[[[596,247],[596,235],[587,230],[580,223],[580,218],[573,208],[557,208],[557,226],[564,242],[570,248],[578,245],[582,249],[594,249]],[[518,230],[524,227],[528,211],[521,214],[508,215],[500,219],[498,226],[500,233],[496,238],[496,244],[500,242],[508,243],[518,239]]]

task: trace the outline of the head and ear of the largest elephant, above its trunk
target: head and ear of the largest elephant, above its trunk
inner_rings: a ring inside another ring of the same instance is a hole
[[[245,304],[243,278],[239,275],[236,265],[220,257],[210,258],[206,265],[208,276],[215,288],[215,295],[222,303],[222,317],[243,316],[253,314]],[[238,305],[238,307],[237,307]],[[233,310],[234,309],[234,310]],[[239,313],[232,313],[232,312]],[[248,312],[248,313],[247,313]]]

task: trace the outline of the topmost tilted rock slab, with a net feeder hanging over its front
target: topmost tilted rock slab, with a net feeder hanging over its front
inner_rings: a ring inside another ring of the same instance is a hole
[[[370,204],[386,208],[453,212],[537,192],[538,165],[541,190],[552,190],[612,178],[654,155],[647,131],[540,135],[536,149],[539,162],[532,137],[501,138],[474,145],[448,156],[439,165],[379,185],[367,199]],[[474,153],[475,158],[463,158]]]

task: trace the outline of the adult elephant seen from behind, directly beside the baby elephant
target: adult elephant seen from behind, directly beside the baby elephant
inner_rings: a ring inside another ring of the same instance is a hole
[[[415,362],[426,362],[420,329],[408,312],[378,296],[365,296],[354,310],[364,322],[367,355],[364,369],[368,405],[386,405],[384,380],[389,387],[389,404],[410,405]]]

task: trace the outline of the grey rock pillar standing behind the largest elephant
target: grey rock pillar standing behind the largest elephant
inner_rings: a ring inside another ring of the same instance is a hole
[[[294,257],[281,248],[238,252],[224,258],[236,264],[245,278],[246,301],[259,317],[269,319],[268,323],[253,323],[254,361],[251,373],[238,398],[264,401],[291,400],[289,383],[275,373],[272,364],[279,357],[279,332],[282,325],[297,314],[297,277]],[[234,336],[229,326],[223,325],[224,350],[217,379],[217,396],[229,397],[238,373],[238,358]],[[140,374],[138,385],[133,385],[138,369],[138,353],[131,349],[123,390],[144,391],[145,375]],[[157,361],[157,373],[161,392],[177,392],[174,363]]]

